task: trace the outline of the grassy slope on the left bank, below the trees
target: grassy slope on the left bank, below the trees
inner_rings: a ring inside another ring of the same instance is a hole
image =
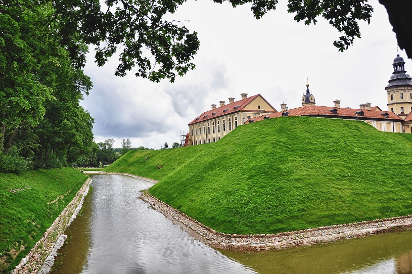
[[[72,168],[28,171],[20,175],[0,173],[0,258],[3,257],[0,272],[8,265],[14,267],[27,255],[86,179],[86,175]],[[59,195],[63,197],[48,205]],[[19,249],[13,261],[11,256]]]

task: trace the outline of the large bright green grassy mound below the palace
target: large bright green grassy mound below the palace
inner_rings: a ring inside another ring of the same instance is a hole
[[[160,179],[152,195],[219,232],[260,234],[411,214],[411,152],[412,134],[283,117],[147,161],[129,153],[117,168]]]

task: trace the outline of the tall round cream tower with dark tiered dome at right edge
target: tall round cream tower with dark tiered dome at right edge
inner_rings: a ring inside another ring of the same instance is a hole
[[[405,61],[399,53],[392,65],[392,77],[385,87],[388,95],[388,110],[405,118],[412,111],[412,77],[406,74]]]

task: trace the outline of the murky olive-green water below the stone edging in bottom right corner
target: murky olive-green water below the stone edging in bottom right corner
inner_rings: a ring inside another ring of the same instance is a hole
[[[264,253],[223,254],[259,273],[412,273],[412,232]]]

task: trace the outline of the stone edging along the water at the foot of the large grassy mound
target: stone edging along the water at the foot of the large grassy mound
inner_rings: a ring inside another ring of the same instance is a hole
[[[170,207],[148,193],[141,196],[145,202],[181,227],[197,240],[215,248],[236,251],[262,251],[293,246],[333,242],[341,239],[364,237],[391,230],[412,228],[412,215],[361,221],[278,234],[237,235],[216,232],[186,214]],[[175,222],[176,223],[176,222]],[[185,229],[185,227],[187,229]]]

